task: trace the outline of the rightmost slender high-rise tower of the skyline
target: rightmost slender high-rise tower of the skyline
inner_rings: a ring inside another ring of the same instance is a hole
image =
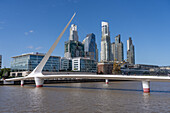
[[[129,62],[129,64],[135,64],[135,47],[131,37],[127,40],[127,62]]]

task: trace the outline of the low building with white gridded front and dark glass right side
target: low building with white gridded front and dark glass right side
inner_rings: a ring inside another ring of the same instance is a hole
[[[90,58],[77,57],[72,59],[72,71],[97,72],[97,62]]]

